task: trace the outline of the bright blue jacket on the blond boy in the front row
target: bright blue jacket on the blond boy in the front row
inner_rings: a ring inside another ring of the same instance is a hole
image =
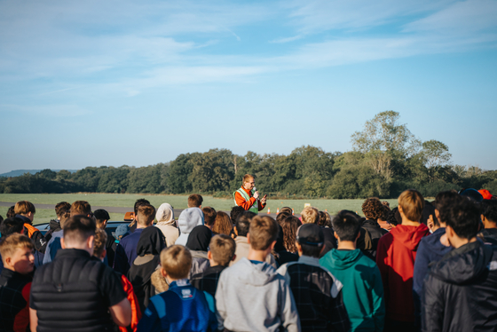
[[[186,279],[173,281],[170,289],[150,298],[137,332],[216,331],[214,298],[195,289]]]

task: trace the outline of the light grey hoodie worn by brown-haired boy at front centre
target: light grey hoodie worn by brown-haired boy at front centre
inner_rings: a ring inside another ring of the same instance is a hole
[[[226,268],[216,291],[219,328],[230,331],[300,331],[296,303],[287,281],[267,263],[247,258]]]

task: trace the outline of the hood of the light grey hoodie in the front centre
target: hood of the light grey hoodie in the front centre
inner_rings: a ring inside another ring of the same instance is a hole
[[[243,257],[236,265],[238,265],[236,279],[243,284],[264,286],[278,276],[274,267],[265,262],[252,264]]]

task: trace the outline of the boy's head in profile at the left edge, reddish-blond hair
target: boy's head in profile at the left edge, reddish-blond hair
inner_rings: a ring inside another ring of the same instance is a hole
[[[32,273],[35,268],[34,248],[33,241],[26,235],[12,233],[9,236],[2,236],[0,255],[4,268],[20,274]]]

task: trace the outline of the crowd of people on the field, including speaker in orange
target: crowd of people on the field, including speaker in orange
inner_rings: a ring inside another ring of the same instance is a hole
[[[0,222],[0,331],[495,331],[497,200],[414,189],[398,207],[258,215],[252,176],[228,213],[200,194],[175,218],[134,205],[107,228],[60,202],[50,229],[17,202]]]

